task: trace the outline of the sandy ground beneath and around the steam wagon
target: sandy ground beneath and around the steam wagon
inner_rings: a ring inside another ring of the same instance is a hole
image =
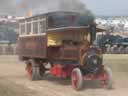
[[[50,75],[41,81],[30,81],[25,73],[25,64],[19,62],[17,56],[0,56],[0,82],[8,84],[10,89],[22,90],[16,96],[128,96],[128,55],[105,56],[104,63],[113,69],[112,90],[102,88],[97,81],[86,81],[84,89],[77,92],[69,80]]]

